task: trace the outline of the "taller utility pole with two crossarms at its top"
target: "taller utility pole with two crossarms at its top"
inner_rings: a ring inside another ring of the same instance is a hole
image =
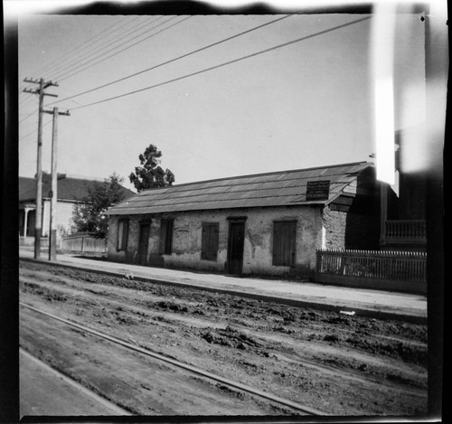
[[[42,106],[44,96],[58,97],[56,94],[45,93],[47,87],[58,84],[52,81],[32,80],[25,78],[24,82],[39,84],[39,89],[28,90],[24,89],[25,93],[32,93],[39,95],[39,109],[38,109],[38,153],[36,157],[36,216],[34,220],[34,259],[41,257],[41,236],[42,236]]]

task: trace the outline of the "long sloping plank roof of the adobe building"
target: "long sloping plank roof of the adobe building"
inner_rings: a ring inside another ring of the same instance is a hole
[[[327,204],[344,193],[356,192],[360,174],[373,168],[372,163],[345,165],[255,174],[179,184],[149,189],[108,209],[110,215],[135,215],[158,212],[202,211],[263,206]],[[309,181],[330,181],[328,200],[306,201]],[[353,187],[354,185],[354,187]]]

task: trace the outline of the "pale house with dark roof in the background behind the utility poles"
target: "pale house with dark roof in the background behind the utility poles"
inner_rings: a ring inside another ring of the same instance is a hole
[[[99,180],[58,174],[57,180],[57,238],[71,232],[74,205],[88,194],[89,184],[103,184]],[[52,180],[50,174],[42,173],[42,237],[50,231]],[[134,192],[123,187],[126,197]],[[21,245],[33,245],[36,216],[36,180],[19,177],[19,240]],[[45,245],[45,240],[44,245]]]

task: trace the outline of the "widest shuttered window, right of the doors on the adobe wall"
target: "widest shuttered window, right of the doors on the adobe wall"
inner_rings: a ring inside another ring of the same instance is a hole
[[[297,221],[275,221],[273,228],[273,265],[294,267]]]

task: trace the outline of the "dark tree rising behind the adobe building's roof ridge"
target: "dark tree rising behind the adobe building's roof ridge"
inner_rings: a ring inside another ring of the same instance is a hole
[[[154,145],[146,147],[145,153],[139,155],[141,166],[136,166],[135,173],[129,175],[130,183],[135,185],[137,192],[146,188],[166,187],[174,183],[174,174],[160,164],[162,152]]]

